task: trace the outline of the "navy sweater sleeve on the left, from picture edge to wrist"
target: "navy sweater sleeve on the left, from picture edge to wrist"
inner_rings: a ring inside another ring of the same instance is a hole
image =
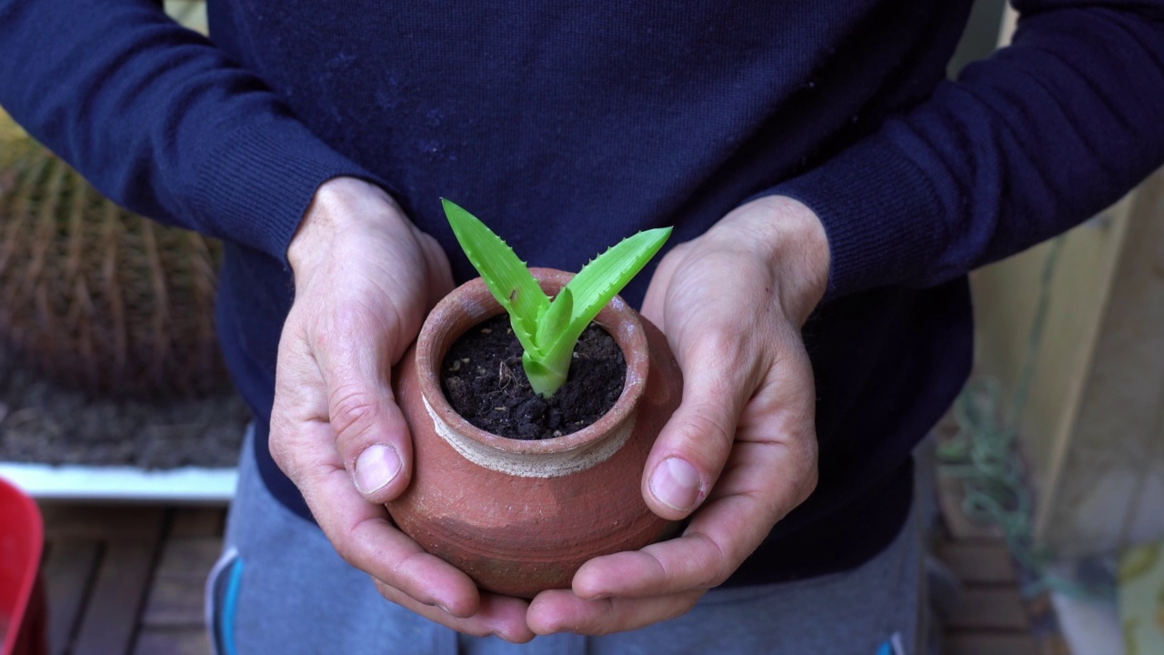
[[[150,0],[0,0],[0,105],[114,202],[285,262],[315,189],[370,177]]]

